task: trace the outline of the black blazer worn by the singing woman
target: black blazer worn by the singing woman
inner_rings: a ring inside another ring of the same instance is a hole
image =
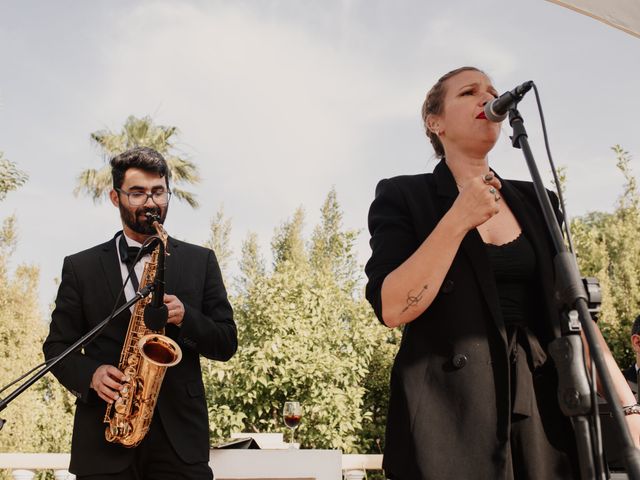
[[[539,321],[532,329],[546,349],[557,331],[552,244],[532,184],[501,181],[500,194],[536,253]],[[457,194],[444,161],[433,174],[378,184],[369,211],[372,255],[366,265],[366,294],[380,320],[384,278],[417,250]],[[506,330],[493,271],[473,229],[463,239],[433,303],[404,327],[391,373],[383,462],[387,476],[505,478],[512,411],[508,371]],[[556,381],[553,369],[540,368],[532,401],[546,405],[545,428],[552,437],[571,439],[570,425],[555,400]]]

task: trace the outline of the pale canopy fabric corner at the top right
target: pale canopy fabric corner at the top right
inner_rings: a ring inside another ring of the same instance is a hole
[[[640,0],[547,0],[640,38]]]

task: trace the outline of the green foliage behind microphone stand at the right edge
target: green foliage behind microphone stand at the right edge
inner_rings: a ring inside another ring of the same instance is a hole
[[[580,270],[602,288],[600,329],[618,364],[627,366],[634,359],[631,325],[640,314],[640,197],[629,153],[619,145],[612,150],[625,179],[614,212],[592,212],[571,226]]]

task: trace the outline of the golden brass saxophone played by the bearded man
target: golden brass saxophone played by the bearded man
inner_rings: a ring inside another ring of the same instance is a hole
[[[168,235],[158,221],[153,222],[158,237],[166,248]],[[160,245],[151,253],[144,266],[140,288],[153,283],[158,268]],[[107,406],[104,423],[105,438],[125,447],[135,447],[149,431],[153,411],[167,367],[180,362],[182,351],[176,342],[160,331],[149,330],[144,324],[144,310],[151,302],[146,297],[136,303],[129,329],[120,353],[118,369],[128,376],[120,398]]]

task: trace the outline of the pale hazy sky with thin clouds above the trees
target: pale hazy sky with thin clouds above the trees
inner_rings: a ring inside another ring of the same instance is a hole
[[[274,229],[302,206],[310,235],[335,188],[364,264],[375,186],[433,170],[420,108],[462,65],[500,92],[533,80],[568,214],[615,207],[611,146],[640,171],[640,39],[550,2],[0,0],[0,151],[29,175],[0,202],[0,219],[18,222],[11,266],[40,268],[46,318],[63,258],[120,228],[110,203],[73,189],[104,164],[90,133],[129,115],[178,127],[176,151],[200,169],[201,206],[172,201],[172,236],[204,243],[223,205],[234,264],[249,232],[268,258]],[[548,181],[532,92],[519,109]],[[491,166],[529,179],[502,131]]]

